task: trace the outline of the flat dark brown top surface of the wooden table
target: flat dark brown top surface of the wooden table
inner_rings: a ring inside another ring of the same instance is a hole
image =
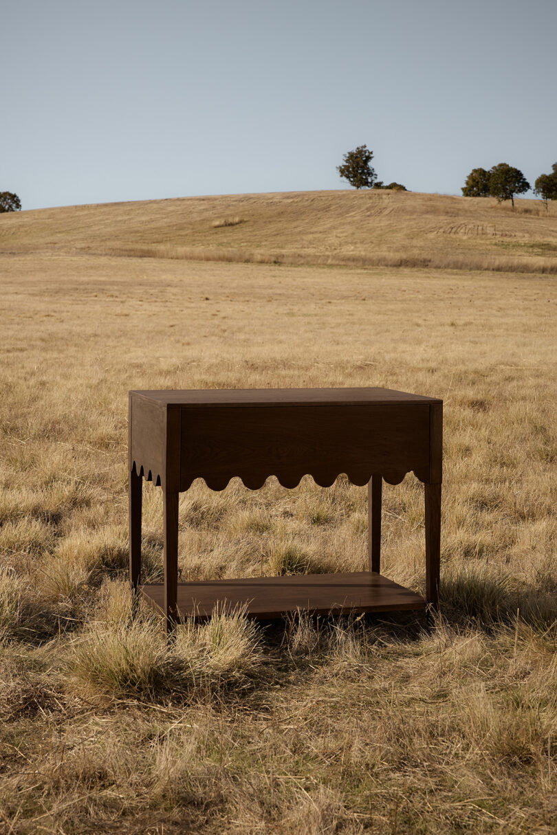
[[[367,406],[395,403],[441,403],[438,397],[397,392],[392,388],[190,388],[132,391],[160,405],[187,407]]]

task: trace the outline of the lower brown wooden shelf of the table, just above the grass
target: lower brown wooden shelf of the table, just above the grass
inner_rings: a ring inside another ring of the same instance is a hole
[[[165,586],[141,586],[144,597],[165,614]],[[329,612],[387,612],[425,609],[423,597],[371,571],[352,574],[295,574],[286,577],[201,580],[178,584],[180,619],[210,617],[215,605],[232,611],[246,605],[246,614],[260,620],[303,610]]]

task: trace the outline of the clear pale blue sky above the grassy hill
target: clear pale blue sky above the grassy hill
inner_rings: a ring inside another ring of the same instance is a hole
[[[557,0],[4,0],[0,190],[23,209],[557,162]]]

